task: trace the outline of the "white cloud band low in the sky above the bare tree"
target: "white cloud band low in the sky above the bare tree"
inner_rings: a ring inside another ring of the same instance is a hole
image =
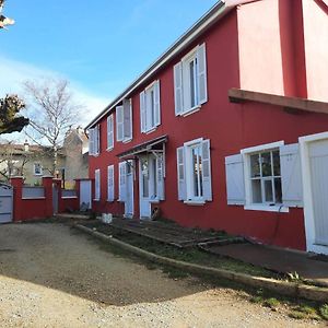
[[[31,63],[12,60],[0,56],[0,97],[7,93],[23,94],[22,82],[38,79],[66,79],[70,81],[70,90],[77,103],[82,104],[85,109],[81,126],[91,121],[106,105],[110,98],[94,95],[85,86],[68,77],[46,68],[38,68]]]

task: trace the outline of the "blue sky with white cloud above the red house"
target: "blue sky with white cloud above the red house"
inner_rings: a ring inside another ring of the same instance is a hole
[[[0,30],[0,96],[26,80],[67,79],[85,126],[215,2],[7,0],[15,24]]]

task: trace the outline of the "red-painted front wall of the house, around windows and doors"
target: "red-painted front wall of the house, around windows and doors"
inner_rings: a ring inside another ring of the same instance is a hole
[[[140,132],[139,93],[133,93],[133,140],[115,141],[114,150],[106,151],[106,118],[101,121],[101,154],[90,157],[90,177],[101,168],[101,201],[93,203],[95,211],[124,213],[124,204],[107,202],[107,166],[115,164],[115,195],[118,198],[118,153],[141,142],[168,134],[166,144],[165,200],[159,204],[162,215],[187,226],[224,230],[250,236],[265,243],[305,249],[304,218],[302,209],[289,213],[246,211],[244,207],[227,206],[225,165],[227,155],[239,153],[247,147],[284,140],[297,142],[300,136],[328,130],[328,117],[316,114],[289,114],[280,107],[262,104],[231,104],[227,91],[239,87],[239,49],[236,11],[230,13],[206,35],[187,49],[206,42],[209,101],[201,109],[186,117],[176,117],[174,110],[173,66],[184,54],[162,69],[152,81],[161,81],[162,124],[149,134]],[[266,74],[266,72],[262,72]],[[267,77],[270,79],[270,77]],[[281,85],[283,87],[283,85]],[[115,124],[116,129],[116,124]],[[211,167],[213,201],[204,206],[188,206],[178,201],[176,149],[197,138],[211,140]],[[116,138],[115,138],[116,139]],[[134,180],[134,216],[139,218],[138,169]]]

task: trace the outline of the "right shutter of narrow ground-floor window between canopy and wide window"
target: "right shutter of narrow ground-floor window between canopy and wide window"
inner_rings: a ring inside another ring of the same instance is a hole
[[[211,149],[210,140],[203,140],[201,144],[201,174],[202,174],[202,196],[204,200],[212,200],[212,174],[211,174]]]

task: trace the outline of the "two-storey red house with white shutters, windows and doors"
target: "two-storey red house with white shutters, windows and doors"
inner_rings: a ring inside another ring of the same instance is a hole
[[[93,209],[328,254],[327,13],[218,2],[86,127]]]

